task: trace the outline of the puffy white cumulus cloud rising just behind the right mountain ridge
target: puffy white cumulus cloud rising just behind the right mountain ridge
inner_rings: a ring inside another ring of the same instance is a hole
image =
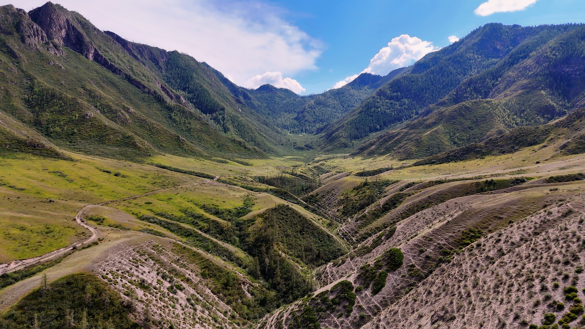
[[[414,64],[415,61],[422,59],[434,50],[436,49],[432,42],[423,41],[415,36],[401,35],[388,42],[388,47],[380,49],[380,52],[370,60],[370,65],[360,74],[371,73],[386,76],[396,68]],[[339,81],[333,86],[333,89],[343,87],[358,76],[359,74],[355,74]]]

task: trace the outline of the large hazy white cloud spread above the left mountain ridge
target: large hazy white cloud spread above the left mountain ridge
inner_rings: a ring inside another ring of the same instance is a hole
[[[29,11],[46,1],[0,0],[0,4]],[[258,0],[54,2],[130,41],[190,54],[239,85],[266,71],[290,75],[315,69],[322,52],[318,40],[281,18],[281,9]]]

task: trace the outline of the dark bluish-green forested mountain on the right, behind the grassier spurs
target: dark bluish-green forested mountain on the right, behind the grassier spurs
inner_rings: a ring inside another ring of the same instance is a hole
[[[459,42],[427,54],[413,66],[408,67],[400,77],[384,84],[343,119],[331,124],[322,135],[322,148],[325,150],[347,148],[353,145],[354,140],[362,139],[370,133],[382,131],[395,124],[429,115],[437,108],[460,104],[464,100],[494,98],[497,95],[499,95],[498,100],[503,100],[507,95],[512,94],[512,90],[515,94],[524,90],[522,94],[526,96],[531,92],[531,95],[534,96],[538,92],[544,91],[545,93],[541,93],[542,96],[538,98],[532,98],[532,96],[529,98],[538,104],[550,102],[550,107],[547,110],[543,108],[546,105],[542,105],[542,107],[539,105],[541,109],[525,111],[525,106],[528,106],[528,103],[518,105],[522,109],[510,109],[518,117],[518,124],[542,124],[563,115],[567,107],[557,101],[560,96],[553,91],[558,87],[546,85],[550,87],[546,87],[547,90],[552,92],[552,94],[546,94],[547,91],[542,90],[545,84],[525,85],[522,84],[522,81],[514,79],[522,76],[521,67],[524,64],[528,65],[529,58],[535,59],[534,54],[531,55],[532,52],[545,47],[548,42],[552,42],[557,37],[569,35],[573,30],[581,28],[580,25],[522,27],[518,25],[505,26],[499,23],[490,23],[478,28]],[[543,60],[542,57],[539,57],[539,60]],[[532,64],[529,68],[534,71],[537,68],[535,65],[544,64],[540,61],[537,63]],[[564,66],[560,64],[560,66],[555,67]],[[554,67],[550,66],[550,69],[554,69]],[[559,71],[558,74],[567,73]],[[524,77],[528,78],[526,75],[522,76],[522,78]],[[504,80],[504,78],[508,80]],[[552,80],[550,83],[553,83]],[[507,93],[504,92],[504,89],[507,90]],[[443,100],[445,97],[447,98]],[[517,97],[515,101],[518,102],[519,99]],[[525,99],[528,100],[528,98]],[[436,105],[433,106],[433,104]],[[427,120],[430,122],[433,118]],[[482,121],[481,124],[483,125],[484,122]],[[487,130],[495,129],[493,133],[496,133],[495,131],[501,128],[504,132],[515,125],[517,124],[510,126],[503,123],[500,125],[501,127],[495,128],[495,125],[492,125]],[[402,132],[408,135],[408,131],[412,128],[414,127],[409,126],[409,128],[404,128]],[[459,129],[459,131],[468,131],[473,127],[466,126],[465,128]],[[472,134],[474,133],[472,132]],[[394,136],[398,138],[397,135]],[[398,139],[395,138],[392,140],[397,142],[404,139],[404,135]],[[445,147],[455,147],[459,145],[458,143],[472,142],[476,138],[480,137],[449,139],[446,142],[448,146]],[[388,142],[389,139],[390,135],[385,135],[384,140]],[[373,155],[394,152],[394,147],[397,145],[390,145],[387,142],[382,142],[380,137],[375,142],[364,145],[359,153]],[[449,146],[449,143],[453,145]],[[429,152],[440,152],[440,150],[441,148],[429,150]],[[408,156],[420,156],[424,152],[414,153]]]

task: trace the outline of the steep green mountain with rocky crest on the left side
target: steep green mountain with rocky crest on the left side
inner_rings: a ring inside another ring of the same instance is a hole
[[[104,33],[51,2],[0,12],[0,114],[33,129],[0,126],[12,140],[38,132],[43,145],[122,159],[159,150],[264,156],[288,147],[280,129],[190,56]]]

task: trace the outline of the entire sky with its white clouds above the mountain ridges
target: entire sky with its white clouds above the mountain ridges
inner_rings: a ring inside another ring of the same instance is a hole
[[[29,11],[45,1],[0,4]],[[271,83],[300,94],[343,85],[362,71],[386,74],[485,23],[585,22],[585,0],[53,2],[99,29],[206,61],[238,85]]]

